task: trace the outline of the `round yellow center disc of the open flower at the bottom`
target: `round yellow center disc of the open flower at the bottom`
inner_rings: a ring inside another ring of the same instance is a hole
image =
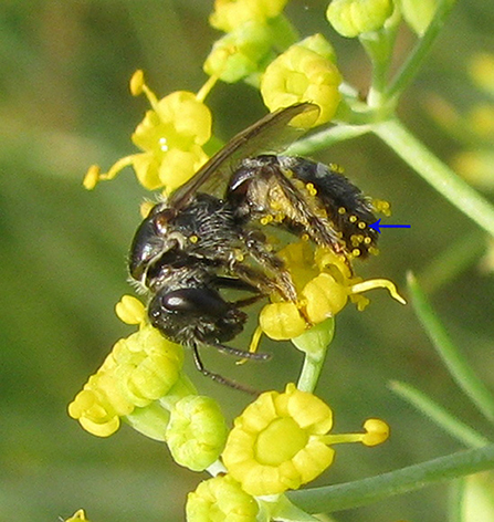
[[[307,440],[307,434],[294,419],[277,418],[259,435],[255,460],[264,466],[280,466],[305,448]]]

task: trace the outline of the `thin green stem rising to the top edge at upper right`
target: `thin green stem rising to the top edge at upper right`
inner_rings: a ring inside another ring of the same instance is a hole
[[[386,98],[391,101],[391,103],[397,102],[400,94],[417,76],[419,69],[422,66],[424,59],[429,54],[429,51],[442,27],[444,25],[448,14],[450,13],[454,3],[455,2],[452,0],[442,0],[442,2],[438,6],[435,15],[429,24],[425,33],[420,38],[408,60],[398,71],[397,75],[385,93]]]

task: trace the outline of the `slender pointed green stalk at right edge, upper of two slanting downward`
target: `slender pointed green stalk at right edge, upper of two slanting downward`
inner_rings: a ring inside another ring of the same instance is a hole
[[[412,296],[412,305],[427,334],[446,365],[451,376],[463,392],[471,398],[479,410],[494,422],[494,397],[475,375],[466,357],[451,342],[444,326],[429,304],[413,274],[408,275],[408,285]]]

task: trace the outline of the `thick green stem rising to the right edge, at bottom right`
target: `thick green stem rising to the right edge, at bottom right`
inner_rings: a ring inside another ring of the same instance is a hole
[[[396,494],[494,468],[494,445],[440,457],[378,477],[337,486],[291,491],[286,495],[308,513],[367,505]]]

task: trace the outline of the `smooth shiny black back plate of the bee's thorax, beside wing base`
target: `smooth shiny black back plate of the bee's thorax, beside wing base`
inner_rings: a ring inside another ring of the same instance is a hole
[[[175,246],[176,241],[169,237],[169,222],[176,213],[174,208],[158,203],[139,225],[128,258],[128,269],[136,281],[144,283],[148,269]]]

